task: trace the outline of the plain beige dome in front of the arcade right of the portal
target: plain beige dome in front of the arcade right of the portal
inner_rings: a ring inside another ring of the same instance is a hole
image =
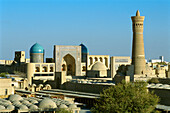
[[[102,71],[102,70],[107,70],[107,67],[102,63],[102,62],[96,62],[91,70],[94,70],[94,71]]]

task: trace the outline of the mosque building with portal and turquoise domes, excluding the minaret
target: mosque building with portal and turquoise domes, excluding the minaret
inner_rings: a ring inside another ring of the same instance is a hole
[[[23,74],[27,84],[32,85],[34,80],[55,80],[57,75],[62,83],[76,77],[112,79],[120,65],[131,63],[128,56],[89,55],[84,44],[54,45],[53,58],[46,58],[45,62],[45,49],[35,43],[29,55],[30,58],[25,58],[25,51],[15,51],[13,61],[4,61],[2,64],[1,60],[1,71]]]

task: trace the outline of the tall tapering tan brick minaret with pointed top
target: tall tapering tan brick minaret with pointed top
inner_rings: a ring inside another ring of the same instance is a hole
[[[143,21],[144,16],[140,16],[139,10],[136,16],[132,16],[133,25],[133,46],[132,65],[134,65],[134,75],[144,75],[145,73],[145,52],[143,43]]]

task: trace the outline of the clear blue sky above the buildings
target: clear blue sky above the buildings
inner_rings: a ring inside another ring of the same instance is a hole
[[[170,61],[170,0],[0,0],[0,60],[39,43],[45,57],[54,45],[83,43],[91,55],[131,56],[132,21],[144,20],[146,59]]]

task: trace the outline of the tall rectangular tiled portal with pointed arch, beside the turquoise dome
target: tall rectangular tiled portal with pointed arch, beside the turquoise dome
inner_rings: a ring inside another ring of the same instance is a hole
[[[81,46],[55,45],[54,62],[56,72],[81,76]]]

